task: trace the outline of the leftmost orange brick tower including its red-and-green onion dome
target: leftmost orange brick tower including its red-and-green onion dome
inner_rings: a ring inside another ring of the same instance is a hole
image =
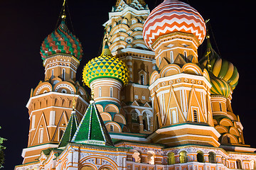
[[[75,80],[82,59],[82,46],[63,20],[41,45],[45,79],[31,90],[27,103],[30,128],[28,147],[23,149],[23,164],[35,162],[43,149],[58,147],[68,120],[73,100],[75,112],[82,118],[88,106],[87,93]]]

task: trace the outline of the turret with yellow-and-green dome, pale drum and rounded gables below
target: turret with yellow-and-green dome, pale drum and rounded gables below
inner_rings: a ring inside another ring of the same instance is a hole
[[[124,115],[120,114],[121,89],[127,85],[129,71],[127,65],[113,57],[105,38],[102,54],[90,60],[82,72],[83,81],[92,90],[95,104],[105,120],[107,129],[121,131],[126,125]],[[122,121],[119,121],[120,119]]]

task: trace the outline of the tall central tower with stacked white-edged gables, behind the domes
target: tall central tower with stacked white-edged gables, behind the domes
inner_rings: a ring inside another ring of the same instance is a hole
[[[120,94],[120,113],[124,115],[127,128],[115,132],[148,134],[153,130],[148,87],[155,60],[154,52],[146,47],[142,36],[149,13],[144,0],[117,0],[109,13],[109,20],[103,25],[112,55],[125,62],[129,69],[128,84]],[[114,135],[117,137],[118,134]],[[123,136],[120,135],[119,139]]]

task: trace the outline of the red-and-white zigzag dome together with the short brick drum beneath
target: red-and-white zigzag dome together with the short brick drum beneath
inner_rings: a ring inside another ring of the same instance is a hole
[[[206,24],[195,8],[178,0],[165,0],[144,23],[146,46],[156,53],[156,66],[197,63],[198,46],[206,36]]]

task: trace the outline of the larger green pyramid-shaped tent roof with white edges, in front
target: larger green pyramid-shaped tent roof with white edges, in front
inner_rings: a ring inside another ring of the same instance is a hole
[[[114,146],[95,101],[90,101],[72,142]]]

